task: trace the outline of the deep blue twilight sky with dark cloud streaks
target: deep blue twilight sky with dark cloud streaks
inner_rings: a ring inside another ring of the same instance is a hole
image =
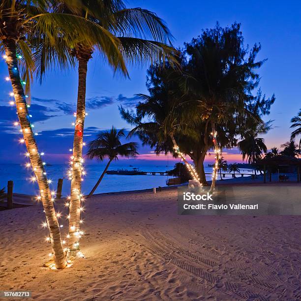
[[[301,2],[299,1],[178,1],[178,0],[131,0],[128,7],[140,6],[154,11],[163,18],[175,37],[174,46],[201,33],[202,29],[240,22],[245,44],[260,42],[262,50],[258,59],[268,59],[260,70],[261,88],[270,97],[275,93],[268,119],[274,120],[272,129],[264,136],[268,148],[279,147],[289,140],[290,119],[301,108]],[[113,124],[129,128],[120,118],[118,105],[132,107],[136,103],[135,93],[146,93],[147,66],[130,66],[130,80],[113,75],[112,70],[95,53],[90,60],[87,78],[87,141],[99,129],[108,129]],[[10,82],[4,80],[7,70],[0,60],[0,132],[5,141],[0,150],[0,162],[21,162],[17,129],[11,127],[16,120],[14,108],[8,107]],[[1,80],[3,79],[3,80]],[[56,154],[53,161],[60,161],[60,154],[68,153],[72,146],[72,112],[77,94],[76,70],[51,72],[40,85],[32,88],[31,111],[35,118],[38,143],[44,151]],[[140,149],[142,153],[151,151]],[[231,152],[231,151],[230,151]],[[236,151],[232,151],[236,152]],[[9,157],[9,158],[8,158]],[[56,158],[56,159],[54,159]],[[61,162],[61,161],[60,161]]]

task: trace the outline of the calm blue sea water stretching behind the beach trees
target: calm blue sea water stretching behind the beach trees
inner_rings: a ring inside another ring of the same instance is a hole
[[[139,168],[141,171],[150,172],[165,172],[167,166],[162,161],[158,161],[157,164],[148,164],[147,162],[139,162],[139,165],[132,164],[130,166],[128,162],[118,164],[114,162],[110,165],[109,170],[116,169],[128,169]],[[87,175],[84,177],[82,182],[83,194],[88,194],[99,179],[103,169],[104,163],[95,165],[86,165],[85,171]],[[171,169],[170,167],[169,169]],[[50,187],[52,190],[57,190],[58,179],[63,178],[62,196],[70,194],[70,181],[67,177],[68,165],[51,165],[45,167],[47,177],[52,181]],[[206,173],[211,173],[211,167],[205,167]],[[241,170],[242,172],[242,170]],[[244,171],[246,172],[246,171]],[[247,172],[251,173],[251,172]],[[207,180],[211,180],[211,175],[207,175]],[[14,182],[13,191],[17,193],[24,193],[30,195],[38,194],[38,186],[36,182],[30,181],[32,172],[21,164],[1,164],[0,165],[0,188],[7,187],[7,181],[12,180]],[[231,175],[226,175],[227,178],[232,178]],[[172,178],[169,176],[169,178]],[[219,179],[219,176],[218,176]],[[117,192],[127,190],[140,190],[148,189],[158,186],[166,186],[167,176],[127,176],[127,175],[105,175],[103,180],[100,182],[95,193],[104,192]],[[6,189],[5,189],[6,190]]]

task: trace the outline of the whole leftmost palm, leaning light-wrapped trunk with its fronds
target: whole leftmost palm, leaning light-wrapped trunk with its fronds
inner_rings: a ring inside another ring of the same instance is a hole
[[[64,32],[64,44],[69,46],[71,41],[74,41],[74,32],[78,37],[87,36],[88,33],[90,41],[99,39],[99,33],[90,30],[87,20],[70,14],[62,17],[54,9],[56,4],[55,0],[2,0],[0,2],[0,52],[4,53],[3,57],[7,63],[12,84],[19,123],[24,137],[21,142],[25,142],[27,155],[35,175],[33,179],[39,185],[55,266],[57,269],[62,269],[66,266],[66,259],[62,248],[60,227],[43,161],[34,139],[29,106],[26,102],[28,95],[25,94],[24,83],[26,82],[26,91],[29,91],[30,80],[36,67],[30,48],[41,50],[43,38],[47,40],[54,60],[60,53],[60,48],[56,49],[56,47],[59,46],[58,40],[62,32]],[[40,56],[43,57],[41,52]],[[44,67],[45,65],[42,69]]]

